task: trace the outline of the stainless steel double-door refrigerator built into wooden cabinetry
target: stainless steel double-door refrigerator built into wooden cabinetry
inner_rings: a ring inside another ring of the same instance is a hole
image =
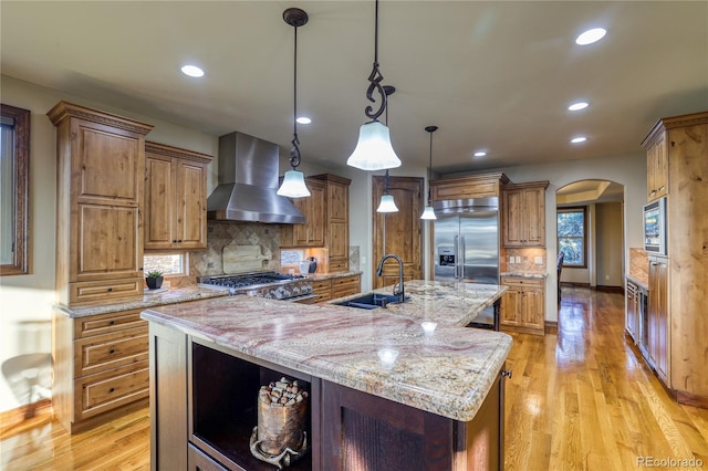
[[[436,281],[499,284],[499,198],[436,201]],[[487,308],[472,326],[499,329],[499,311]]]

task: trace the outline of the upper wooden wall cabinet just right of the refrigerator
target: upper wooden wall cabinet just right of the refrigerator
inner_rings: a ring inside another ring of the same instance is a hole
[[[501,190],[503,247],[545,247],[548,181],[511,184]]]

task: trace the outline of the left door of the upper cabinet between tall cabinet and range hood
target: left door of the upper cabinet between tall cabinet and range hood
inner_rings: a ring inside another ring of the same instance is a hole
[[[169,249],[175,239],[173,159],[147,158],[145,170],[145,249]]]

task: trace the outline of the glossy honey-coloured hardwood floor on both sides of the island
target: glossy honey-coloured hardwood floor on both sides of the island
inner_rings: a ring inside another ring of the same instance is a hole
[[[708,468],[708,410],[670,399],[623,318],[622,294],[563,287],[558,335],[512,334],[507,470]],[[0,458],[3,470],[146,470],[148,410],[74,436],[39,417],[3,435]],[[691,458],[702,464],[679,461]]]

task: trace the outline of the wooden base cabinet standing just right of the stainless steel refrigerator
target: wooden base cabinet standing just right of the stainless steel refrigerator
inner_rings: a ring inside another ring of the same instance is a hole
[[[501,301],[501,329],[544,335],[545,280],[502,276],[501,284],[509,286]]]

